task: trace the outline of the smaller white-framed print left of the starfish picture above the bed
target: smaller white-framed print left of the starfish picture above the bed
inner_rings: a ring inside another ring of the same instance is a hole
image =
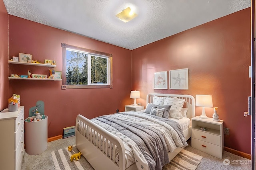
[[[168,89],[167,71],[154,72],[154,89]]]

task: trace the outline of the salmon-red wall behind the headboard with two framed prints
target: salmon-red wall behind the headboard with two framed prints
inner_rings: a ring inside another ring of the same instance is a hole
[[[224,127],[224,146],[250,153],[251,117],[248,96],[251,93],[250,8],[205,23],[176,35],[132,50],[132,89],[140,90],[145,105],[150,92],[172,94],[210,94],[218,107]],[[189,69],[188,90],[154,90],[154,72]],[[202,107],[196,107],[201,115]],[[212,108],[206,115],[212,117]]]

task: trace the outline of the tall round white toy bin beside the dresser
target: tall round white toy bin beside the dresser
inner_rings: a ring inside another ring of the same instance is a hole
[[[32,116],[29,118],[33,118]],[[40,121],[25,121],[25,148],[27,154],[38,155],[47,149],[48,116]]]

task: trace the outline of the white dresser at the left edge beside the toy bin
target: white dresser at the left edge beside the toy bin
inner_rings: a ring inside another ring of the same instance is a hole
[[[24,155],[24,106],[0,112],[0,169],[20,170]]]

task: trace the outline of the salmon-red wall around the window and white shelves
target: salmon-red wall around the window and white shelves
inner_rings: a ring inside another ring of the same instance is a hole
[[[63,31],[40,23],[9,16],[9,59],[19,53],[32,54],[33,60],[54,59],[62,70],[61,43],[102,51],[113,55],[113,88],[66,89],[62,81],[9,80],[11,96],[21,96],[28,110],[38,100],[44,101],[45,115],[48,115],[48,137],[62,134],[64,127],[75,125],[76,115],[82,114],[89,119],[99,115],[124,111],[124,105],[131,104],[131,51],[88,37]],[[7,60],[6,60],[6,65]],[[48,67],[9,64],[9,74],[48,74]]]

